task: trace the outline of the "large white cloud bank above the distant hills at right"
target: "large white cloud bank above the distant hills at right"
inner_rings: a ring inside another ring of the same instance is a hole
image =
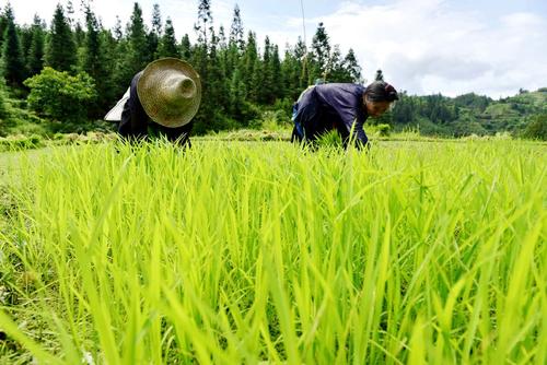
[[[547,20],[532,13],[499,20],[462,12],[441,0],[386,5],[345,2],[324,22],[333,43],[352,47],[371,79],[411,93],[491,96],[547,85]]]

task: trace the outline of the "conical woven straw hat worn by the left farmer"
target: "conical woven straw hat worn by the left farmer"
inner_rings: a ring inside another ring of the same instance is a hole
[[[201,81],[188,62],[163,58],[147,66],[137,84],[137,94],[153,121],[168,128],[182,127],[199,109]]]

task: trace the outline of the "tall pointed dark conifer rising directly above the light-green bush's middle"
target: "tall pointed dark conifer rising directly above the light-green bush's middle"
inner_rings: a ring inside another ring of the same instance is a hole
[[[72,32],[65,17],[65,10],[61,4],[57,5],[54,13],[45,59],[46,66],[57,71],[70,71],[77,63],[77,52]]]

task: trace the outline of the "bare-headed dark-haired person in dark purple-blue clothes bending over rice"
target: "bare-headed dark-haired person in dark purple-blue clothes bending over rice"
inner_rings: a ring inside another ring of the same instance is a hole
[[[369,142],[363,123],[369,116],[384,114],[398,99],[395,87],[375,81],[364,87],[350,83],[319,84],[304,91],[293,107],[291,140],[313,144],[318,137],[337,130],[347,148],[354,139],[357,148]]]

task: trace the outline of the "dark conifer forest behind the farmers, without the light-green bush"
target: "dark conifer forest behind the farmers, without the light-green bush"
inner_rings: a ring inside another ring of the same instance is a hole
[[[256,33],[245,31],[237,5],[230,28],[217,27],[211,0],[201,0],[195,43],[188,34],[178,40],[173,21],[163,20],[159,4],[153,7],[150,26],[138,2],[125,27],[119,17],[114,28],[103,26],[90,3],[82,3],[82,13],[81,23],[69,1],[56,7],[49,26],[38,15],[32,25],[20,26],[8,4],[0,16],[1,74],[7,86],[26,96],[33,83],[25,80],[45,68],[71,76],[85,73],[94,89],[92,101],[85,101],[86,117],[101,118],[150,61],[176,57],[189,61],[201,75],[203,95],[196,126],[197,132],[205,132],[247,127],[264,106],[290,108],[317,79],[361,81],[353,50],[342,56],[339,46],[330,45],[323,24],[310,49],[299,38],[295,45],[287,45],[281,57],[268,36],[259,45]]]

